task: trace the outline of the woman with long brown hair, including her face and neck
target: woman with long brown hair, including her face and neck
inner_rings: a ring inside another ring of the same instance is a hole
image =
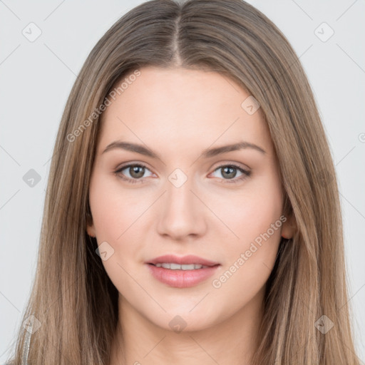
[[[14,364],[359,364],[302,66],[240,0],[148,1],[68,98]]]

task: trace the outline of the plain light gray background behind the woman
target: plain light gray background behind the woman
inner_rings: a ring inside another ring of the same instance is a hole
[[[0,1],[1,363],[34,279],[49,161],[66,98],[98,39],[142,2]],[[344,212],[356,347],[364,361],[364,0],[250,3],[279,26],[297,51],[327,130]],[[31,22],[41,29],[34,42],[22,34]],[[334,35],[324,41],[331,29]],[[23,180],[30,169],[41,176],[34,187]]]

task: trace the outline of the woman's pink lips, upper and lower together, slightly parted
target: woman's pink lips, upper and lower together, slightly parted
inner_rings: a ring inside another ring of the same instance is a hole
[[[163,262],[175,262],[175,264],[202,264],[207,267],[194,270],[173,270],[157,267],[154,264]],[[163,284],[175,288],[194,287],[200,282],[204,282],[208,277],[215,273],[217,267],[220,267],[218,262],[213,262],[207,259],[202,259],[195,255],[187,255],[178,257],[175,255],[164,255],[145,262],[152,276]]]

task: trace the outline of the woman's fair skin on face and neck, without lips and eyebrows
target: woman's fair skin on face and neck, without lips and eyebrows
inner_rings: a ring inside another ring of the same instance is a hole
[[[110,364],[250,364],[265,283],[281,237],[293,235],[289,217],[219,288],[212,280],[235,262],[237,267],[240,255],[283,214],[269,130],[261,109],[250,115],[241,107],[250,94],[219,73],[155,67],[140,72],[103,114],[89,190],[88,234],[114,250],[103,261],[119,292],[120,331]],[[103,153],[115,140],[148,147],[160,159],[121,148]],[[265,153],[244,148],[201,156],[207,148],[241,140]],[[131,168],[115,174],[128,163],[145,165],[144,175]],[[250,176],[237,180],[239,169],[225,169],[232,164]],[[187,177],[180,187],[168,180],[176,168]],[[142,182],[122,179],[138,180],[138,174]],[[170,287],[145,264],[165,254],[197,255],[220,267],[194,287]],[[186,324],[180,332],[169,324],[177,315]]]

